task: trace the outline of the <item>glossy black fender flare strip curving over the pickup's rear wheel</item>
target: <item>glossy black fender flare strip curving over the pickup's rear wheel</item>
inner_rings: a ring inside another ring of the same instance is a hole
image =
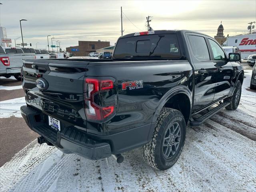
[[[162,108],[164,107],[164,105],[166,104],[166,102],[172,98],[173,96],[175,96],[176,94],[185,94],[186,96],[188,96],[189,100],[190,100],[190,115],[191,115],[191,109],[192,109],[192,92],[188,89],[188,87],[186,86],[176,86],[170,90],[168,90],[168,92],[166,92],[166,94],[164,94],[164,96],[162,96],[162,98],[159,101],[158,107],[156,109],[156,112],[154,113],[152,122],[156,122]]]

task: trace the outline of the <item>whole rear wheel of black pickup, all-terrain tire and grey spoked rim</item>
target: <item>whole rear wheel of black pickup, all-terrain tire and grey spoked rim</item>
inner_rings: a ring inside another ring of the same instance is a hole
[[[156,121],[151,141],[143,146],[144,160],[158,170],[172,167],[182,152],[185,137],[186,123],[182,113],[163,108]]]

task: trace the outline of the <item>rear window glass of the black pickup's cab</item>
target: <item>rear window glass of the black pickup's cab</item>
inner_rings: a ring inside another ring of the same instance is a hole
[[[179,58],[180,47],[176,34],[134,36],[118,40],[116,58]]]

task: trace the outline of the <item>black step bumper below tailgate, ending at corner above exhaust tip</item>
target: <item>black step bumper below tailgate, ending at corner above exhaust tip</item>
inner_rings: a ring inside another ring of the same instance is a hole
[[[61,132],[57,132],[48,126],[48,118],[42,116],[39,110],[29,106],[22,106],[20,110],[30,129],[43,136],[62,152],[79,154],[91,160],[111,156],[108,143],[93,140],[87,137],[84,132],[72,128],[65,128]],[[38,118],[35,118],[35,116]]]

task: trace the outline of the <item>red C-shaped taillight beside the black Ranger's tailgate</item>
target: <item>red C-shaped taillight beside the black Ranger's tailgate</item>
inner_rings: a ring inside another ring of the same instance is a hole
[[[84,110],[88,120],[102,121],[114,113],[115,106],[99,106],[94,98],[97,94],[108,92],[114,88],[112,80],[86,78],[84,84]]]

